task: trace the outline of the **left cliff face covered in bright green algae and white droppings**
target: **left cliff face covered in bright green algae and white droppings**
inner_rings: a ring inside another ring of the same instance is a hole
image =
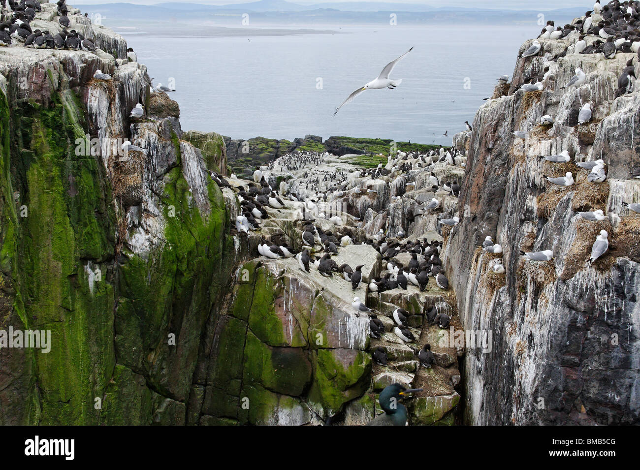
[[[32,27],[55,34],[54,9]],[[70,19],[97,54],[0,51],[0,329],[51,331],[50,352],[0,349],[0,423],[184,423],[229,279],[225,203],[122,37]],[[122,159],[127,139],[147,154]]]

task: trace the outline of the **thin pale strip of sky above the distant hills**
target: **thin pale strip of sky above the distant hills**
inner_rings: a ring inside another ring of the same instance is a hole
[[[78,4],[97,4],[97,3],[137,3],[137,4],[158,4],[164,1],[172,1],[179,3],[201,3],[201,4],[242,4],[252,3],[247,0],[79,0]],[[253,0],[255,1],[255,0]],[[367,3],[375,0],[292,0],[292,3],[298,4],[315,4],[315,3],[340,3],[340,2],[357,2]],[[383,0],[386,3],[394,3],[395,0]],[[454,8],[492,8],[492,9],[509,9],[509,10],[554,10],[556,8],[572,8],[584,7],[585,11],[592,8],[590,0],[563,0],[559,3],[557,0],[536,0],[535,2],[525,2],[522,0],[398,0],[396,3],[415,3],[421,5],[429,5],[434,7],[454,7]]]

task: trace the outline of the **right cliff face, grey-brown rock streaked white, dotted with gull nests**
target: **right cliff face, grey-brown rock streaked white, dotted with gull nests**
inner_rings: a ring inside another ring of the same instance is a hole
[[[549,61],[576,41],[576,33],[541,40],[539,56],[518,59],[508,95],[488,101],[473,131],[454,138],[454,145],[467,149],[468,161],[461,222],[445,245],[445,262],[463,327],[493,332],[491,352],[471,350],[465,359],[470,424],[639,421],[640,221],[621,206],[640,199],[640,181],[630,176],[640,161],[638,84],[615,97],[618,75],[636,54],[604,59],[572,54],[570,47],[564,58]],[[515,90],[547,65],[543,91]],[[576,67],[586,82],[561,89]],[[586,102],[593,118],[577,125],[576,110]],[[554,117],[554,125],[539,125],[544,114]],[[529,136],[523,142],[513,130]],[[563,150],[572,162],[538,159]],[[591,184],[588,171],[573,161],[596,159],[607,163],[607,180]],[[573,172],[575,185],[552,187],[542,176],[566,171]],[[598,208],[609,214],[605,221],[589,223],[574,212]],[[609,252],[586,266],[603,229]],[[478,248],[486,235],[504,247],[506,278],[499,283],[489,274],[489,255]],[[552,261],[525,262],[518,255],[543,249],[554,252]]]

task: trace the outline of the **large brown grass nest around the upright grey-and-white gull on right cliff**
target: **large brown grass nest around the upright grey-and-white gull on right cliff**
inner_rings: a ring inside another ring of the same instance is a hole
[[[575,230],[575,239],[568,253],[564,256],[564,268],[560,276],[563,281],[573,278],[579,270],[586,267],[586,262],[591,256],[591,247],[593,247],[596,237],[600,235],[600,230],[606,230],[609,233],[609,247],[614,246],[614,240],[611,239],[613,229],[609,221],[586,221],[580,219],[576,223]],[[607,251],[593,263],[593,266],[600,270],[611,269],[615,257],[609,255],[610,253]]]

